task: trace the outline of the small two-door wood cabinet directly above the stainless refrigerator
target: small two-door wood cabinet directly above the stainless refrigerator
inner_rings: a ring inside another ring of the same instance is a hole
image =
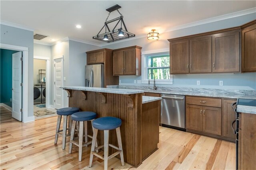
[[[86,52],[87,64],[104,63],[105,51],[106,49],[100,49],[100,50]]]

